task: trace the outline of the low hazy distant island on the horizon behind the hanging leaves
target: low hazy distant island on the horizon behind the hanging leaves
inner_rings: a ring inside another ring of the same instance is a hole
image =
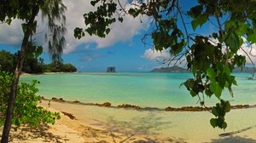
[[[161,68],[154,68],[151,72],[190,72],[189,70],[180,67],[180,66],[170,66],[170,67],[161,67]],[[254,67],[243,67],[242,70],[241,68],[235,68],[233,70],[233,73],[252,73],[255,72]]]

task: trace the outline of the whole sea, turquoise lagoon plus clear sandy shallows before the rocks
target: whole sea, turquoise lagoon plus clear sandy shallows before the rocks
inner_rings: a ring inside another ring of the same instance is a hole
[[[238,86],[233,86],[234,97],[228,90],[221,97],[230,100],[231,105],[255,105],[256,80],[248,80],[249,73],[236,73],[235,76]],[[84,103],[109,102],[112,106],[130,104],[164,109],[167,106],[200,106],[198,97],[193,98],[181,86],[190,77],[193,77],[191,73],[78,72],[24,75],[20,81],[40,81],[38,94],[47,99],[55,97]],[[218,99],[213,95],[205,97],[205,102],[206,106],[212,106]],[[50,105],[57,105],[57,111],[73,113],[86,126],[108,131],[113,142],[256,142],[256,108],[231,110],[225,116],[227,129],[213,129],[211,112],[137,111],[57,102]],[[100,134],[95,135],[96,139]],[[141,136],[140,140],[137,136]],[[101,141],[104,142],[95,142]]]

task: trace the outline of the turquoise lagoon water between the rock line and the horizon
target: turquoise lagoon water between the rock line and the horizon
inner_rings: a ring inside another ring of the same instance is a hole
[[[236,74],[239,86],[234,87],[235,98],[228,91],[223,98],[231,104],[256,104],[256,80],[247,80],[250,74]],[[131,104],[142,107],[199,106],[198,98],[192,98],[184,86],[180,87],[190,73],[152,72],[81,72],[53,75],[21,76],[21,82],[32,79],[40,81],[39,95],[45,98],[63,98],[86,103],[110,102],[113,106]],[[212,106],[217,99],[206,98]]]

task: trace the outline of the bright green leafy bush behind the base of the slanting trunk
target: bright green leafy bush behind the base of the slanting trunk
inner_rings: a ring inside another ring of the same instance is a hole
[[[2,126],[5,119],[5,112],[7,102],[9,100],[10,86],[13,75],[9,72],[0,72],[0,125]],[[37,127],[45,123],[55,123],[55,119],[60,118],[57,112],[49,112],[43,107],[38,106],[41,97],[37,95],[38,89],[36,84],[38,81],[32,83],[20,83],[18,85],[17,97],[15,100],[15,112],[12,122],[15,129],[20,125],[28,125],[30,127]]]

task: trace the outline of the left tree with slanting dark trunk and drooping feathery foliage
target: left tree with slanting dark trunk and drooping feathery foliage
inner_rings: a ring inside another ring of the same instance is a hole
[[[20,72],[25,59],[26,47],[29,37],[36,33],[37,20],[39,10],[41,10],[43,18],[48,20],[47,41],[49,45],[49,54],[53,60],[61,60],[62,48],[65,43],[65,9],[66,7],[61,0],[5,0],[0,1],[0,21],[11,23],[13,19],[23,20],[21,25],[24,36],[20,46],[20,55],[15,67],[14,77],[12,80],[8,109],[3,128],[1,143],[7,143],[9,140],[9,130],[11,129],[12,117],[14,114],[14,103],[17,94],[17,85],[20,78]],[[60,24],[60,25],[58,25]]]

